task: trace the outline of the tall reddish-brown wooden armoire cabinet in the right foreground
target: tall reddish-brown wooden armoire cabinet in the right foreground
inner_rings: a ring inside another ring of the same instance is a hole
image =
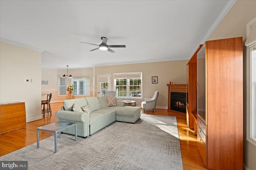
[[[196,100],[188,104],[196,102],[198,150],[208,169],[243,169],[242,48],[237,37],[206,41],[197,52]]]

